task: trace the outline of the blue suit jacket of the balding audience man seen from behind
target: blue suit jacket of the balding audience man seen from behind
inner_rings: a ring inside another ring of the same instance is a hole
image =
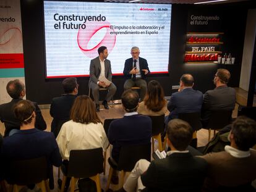
[[[203,93],[201,91],[186,88],[181,92],[173,93],[167,106],[170,111],[168,122],[171,119],[178,118],[179,113],[200,112],[202,103]]]

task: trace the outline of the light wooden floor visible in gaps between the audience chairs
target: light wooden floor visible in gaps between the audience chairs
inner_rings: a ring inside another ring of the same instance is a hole
[[[124,111],[122,109],[122,105],[121,104],[115,104],[112,107],[109,107],[109,110],[106,110],[103,108],[103,106],[100,106],[100,112],[98,113],[98,115],[100,116],[100,119],[102,120],[102,122],[104,122],[105,119],[116,119],[116,118],[122,118],[124,115]],[[237,107],[238,105],[236,104],[236,109],[234,109],[233,112],[233,117],[237,116]],[[43,117],[47,123],[47,129],[46,131],[50,131],[51,128],[51,121],[53,120],[53,118],[49,115],[49,109],[41,109],[41,112],[43,114]],[[168,113],[166,113],[166,115],[168,115]],[[0,133],[4,132],[4,125],[3,123],[1,123],[0,126]],[[211,135],[213,135],[213,133],[211,133]],[[197,132],[197,138],[198,138],[198,146],[205,146],[205,144],[208,143],[208,130],[199,130]],[[156,141],[155,144],[155,148],[157,148],[158,144]],[[109,157],[109,149],[107,152],[107,158]],[[100,178],[101,178],[101,188],[105,189],[106,187],[106,182],[108,180],[108,170],[109,170],[109,165],[108,162],[106,163],[106,175],[103,175],[103,173],[101,173]],[[58,179],[58,169],[56,167],[54,167],[54,185],[55,188],[54,190],[51,191],[59,191],[58,190],[58,184],[57,184],[57,179]],[[62,178],[62,177],[61,177]],[[7,185],[8,187],[8,185]],[[113,190],[117,190],[118,189],[118,185],[111,185],[110,188],[112,188]],[[25,189],[23,189],[22,191],[25,191]]]

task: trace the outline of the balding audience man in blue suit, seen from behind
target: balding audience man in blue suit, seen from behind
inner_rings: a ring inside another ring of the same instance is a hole
[[[179,81],[181,86],[178,92],[171,95],[168,102],[169,115],[166,117],[166,125],[171,119],[178,118],[179,113],[200,112],[203,102],[203,94],[194,90],[194,78],[190,74],[184,74]]]

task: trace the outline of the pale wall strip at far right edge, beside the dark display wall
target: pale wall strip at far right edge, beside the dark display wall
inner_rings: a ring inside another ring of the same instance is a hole
[[[239,87],[249,90],[250,70],[252,68],[252,56],[254,54],[254,42],[256,32],[256,9],[249,9],[244,38],[244,51],[242,54],[242,68]]]

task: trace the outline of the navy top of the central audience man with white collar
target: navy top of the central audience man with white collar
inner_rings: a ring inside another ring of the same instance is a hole
[[[150,143],[151,119],[143,115],[124,116],[109,125],[108,141],[113,144],[112,157],[118,162],[122,146]]]

